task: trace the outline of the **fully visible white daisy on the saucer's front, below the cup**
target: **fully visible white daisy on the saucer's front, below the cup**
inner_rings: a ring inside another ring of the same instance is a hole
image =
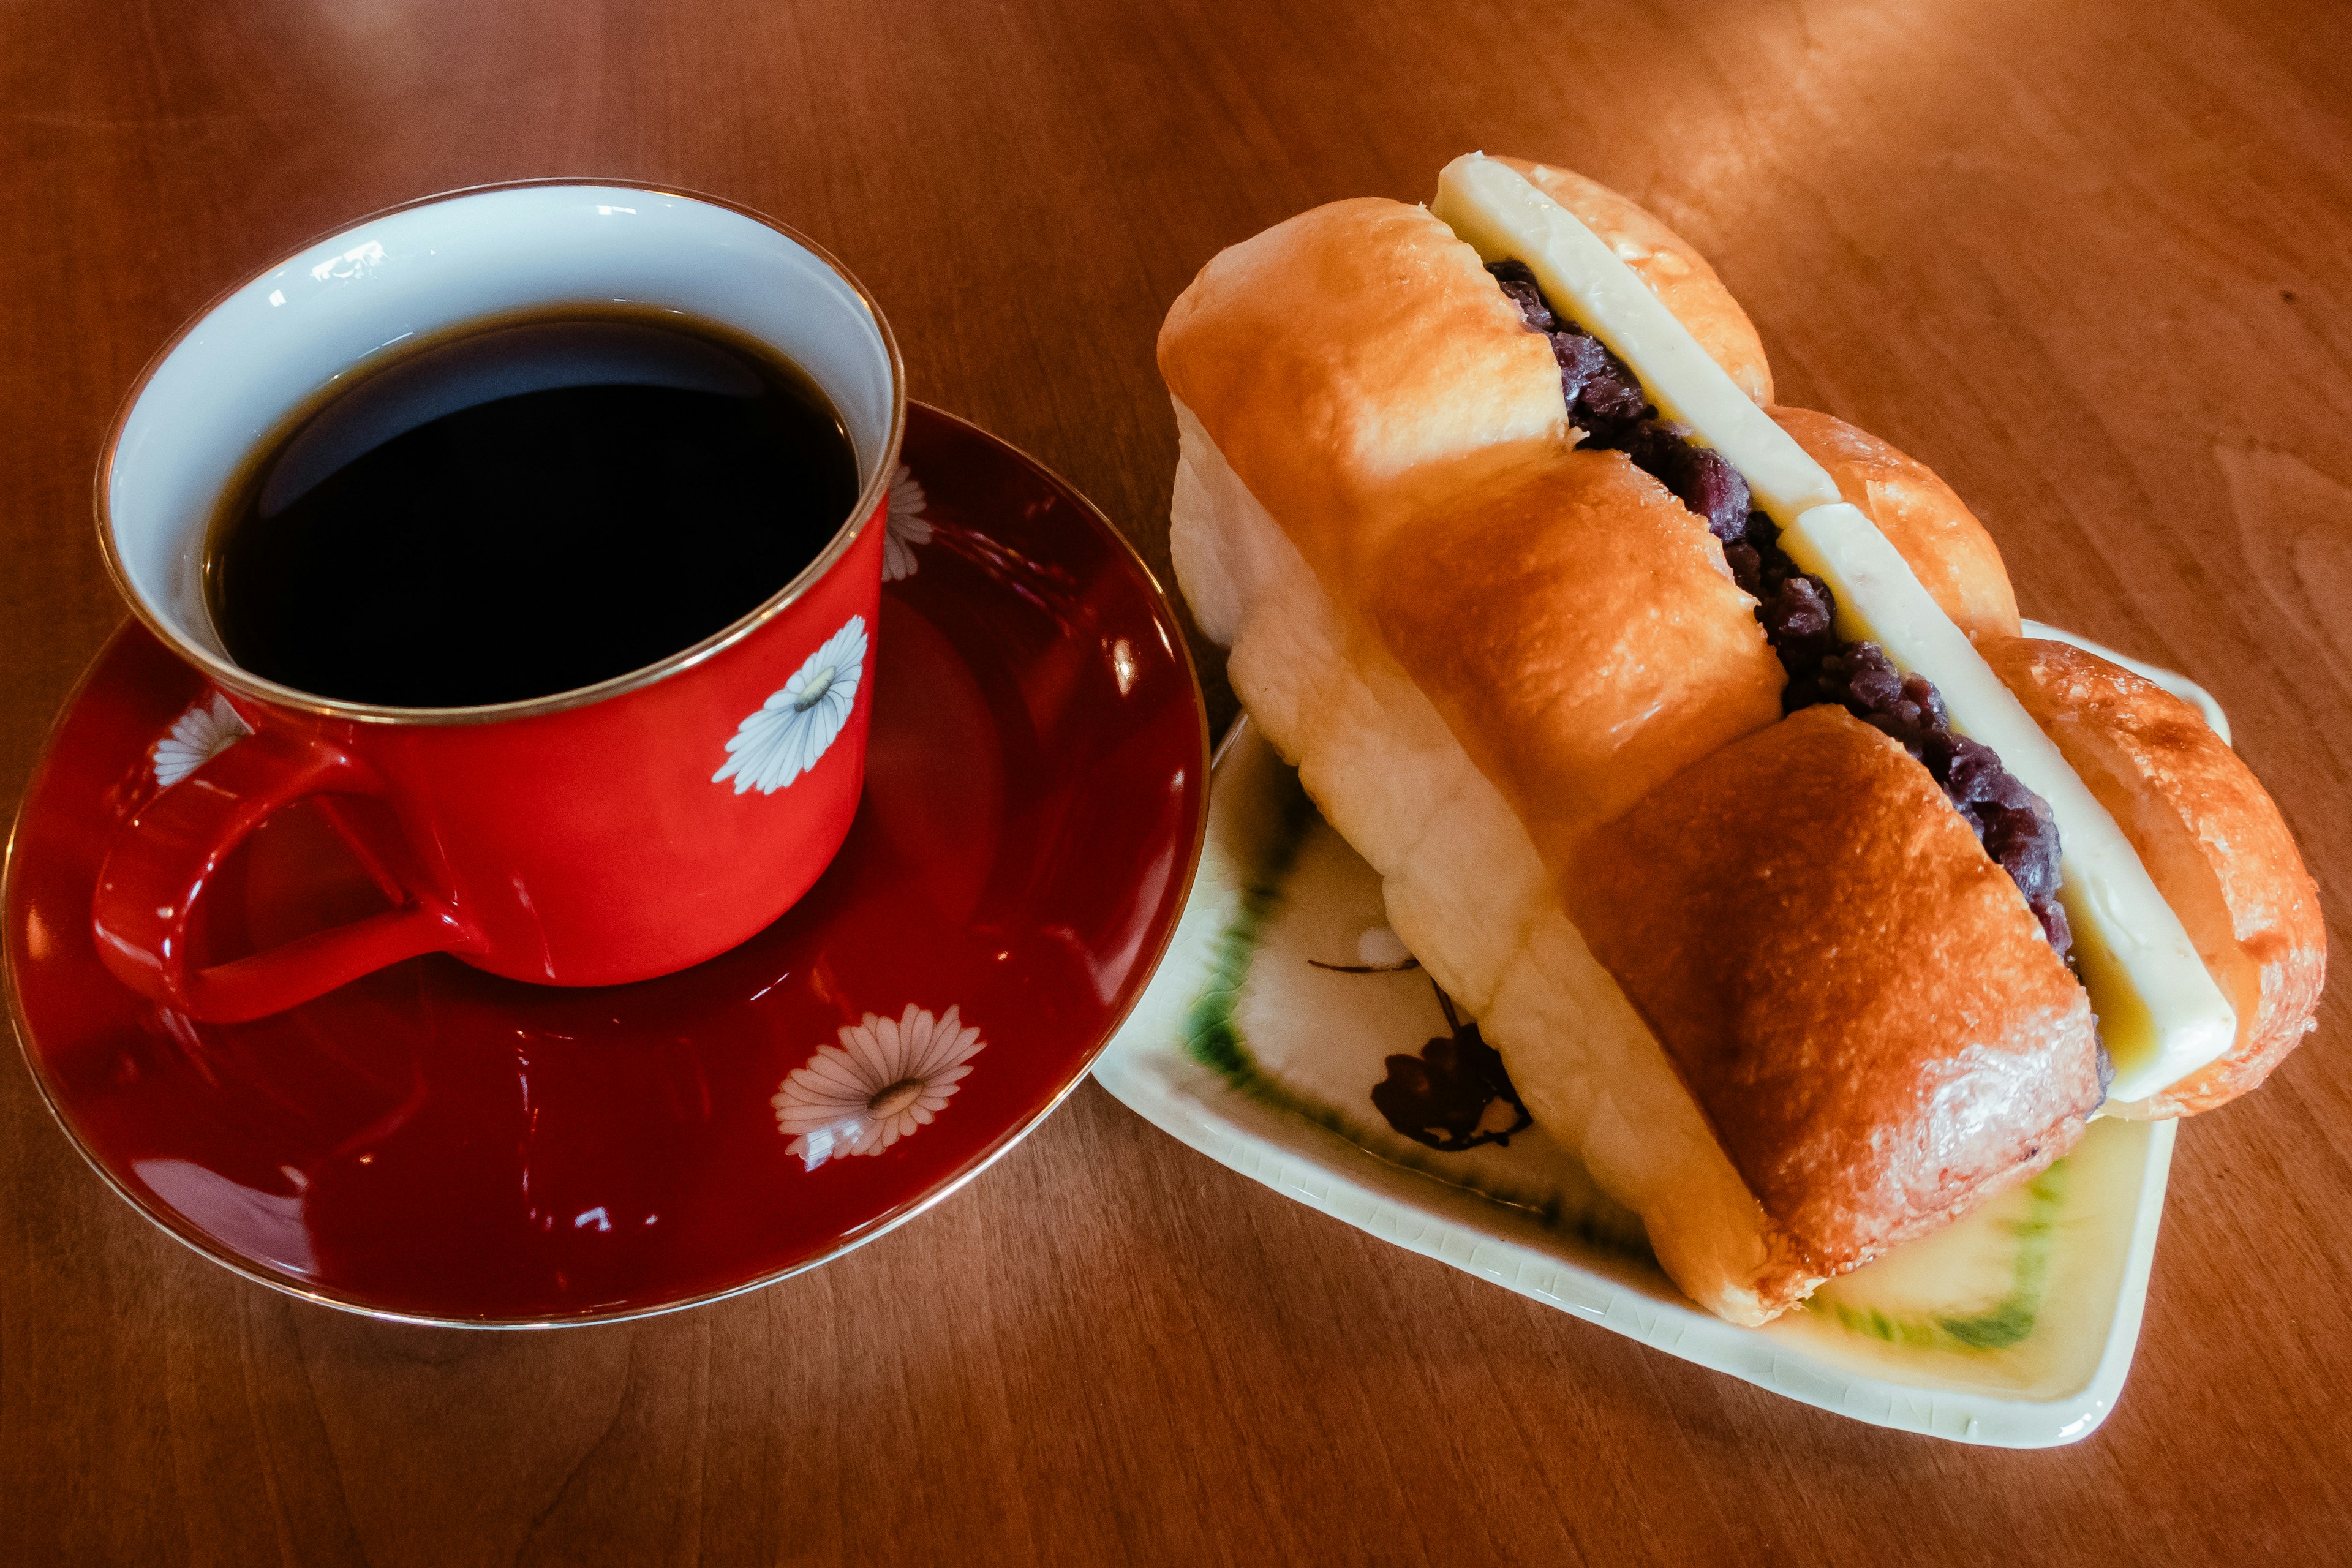
[[[776,1131],[793,1133],[786,1154],[809,1171],[835,1154],[880,1154],[929,1126],[985,1048],[953,1006],[934,1018],[908,1001],[898,1018],[842,1025],[842,1044],[818,1046],[769,1100]]]

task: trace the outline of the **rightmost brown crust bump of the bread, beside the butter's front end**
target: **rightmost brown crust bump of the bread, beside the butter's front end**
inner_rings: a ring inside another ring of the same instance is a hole
[[[2328,969],[2319,889],[2279,806],[2164,686],[2063,642],[2006,637],[1983,654],[2131,839],[2237,1009],[2230,1053],[2133,1114],[2234,1100],[2303,1041]]]

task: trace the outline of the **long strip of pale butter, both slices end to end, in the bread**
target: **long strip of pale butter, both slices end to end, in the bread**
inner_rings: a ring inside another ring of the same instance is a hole
[[[1437,179],[1432,212],[1484,261],[1524,261],[1545,299],[1642,378],[1661,414],[1689,425],[1745,475],[1757,505],[1780,524],[1780,545],[1837,595],[1839,632],[1867,637],[1905,675],[1929,677],[1952,729],[1999,752],[2049,802],[2077,969],[2114,1058],[2110,1100],[2157,1093],[2225,1053],[2237,1016],[2131,839],[1903,555],[1839,501],[1820,463],[1740,393],[1599,235],[1510,165],[1482,153],[1456,158]]]

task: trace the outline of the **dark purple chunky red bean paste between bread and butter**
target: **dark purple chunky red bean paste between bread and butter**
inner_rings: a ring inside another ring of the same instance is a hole
[[[2051,947],[2072,961],[2074,933],[2058,903],[2058,820],[2049,802],[2018,783],[1990,745],[1952,733],[1943,696],[1926,677],[1905,677],[1875,642],[1846,642],[1837,635],[1830,585],[1799,571],[1780,550],[1780,529],[1750,505],[1740,470],[1712,447],[1693,442],[1686,425],[1658,418],[1632,369],[1590,331],[1555,313],[1524,261],[1496,261],[1486,270],[1529,329],[1552,341],[1569,423],[1585,433],[1583,444],[1623,451],[1724,541],[1724,562],[1755,597],[1764,639],[1788,672],[1780,712],[1842,703],[1853,717],[1893,736],[1936,776],[1985,853],[2025,893]]]

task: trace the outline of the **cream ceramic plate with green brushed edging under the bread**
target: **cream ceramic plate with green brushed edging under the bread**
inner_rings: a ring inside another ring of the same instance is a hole
[[[2227,741],[2220,708],[2185,677],[2053,628],[2025,632],[2140,670]],[[2093,1121],[2042,1178],[1823,1286],[1776,1324],[1736,1328],[1665,1279],[1642,1222],[1543,1128],[1461,1152],[1390,1131],[1371,1103],[1388,1060],[1475,1030],[1397,959],[1378,875],[1242,719],[1218,750],[1209,844],[1176,940],[1094,1077],[1284,1197],[1823,1410],[2044,1448],[2082,1439],[2114,1408],[2176,1124]],[[1477,1126],[1510,1121],[1496,1100]]]

